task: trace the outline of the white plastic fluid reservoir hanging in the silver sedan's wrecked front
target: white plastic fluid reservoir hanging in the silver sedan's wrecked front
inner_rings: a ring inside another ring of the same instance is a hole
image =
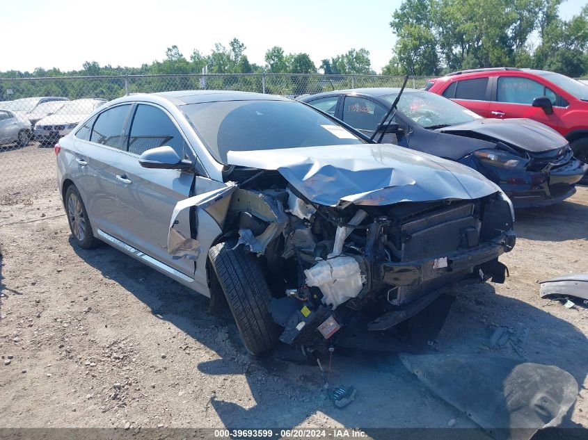
[[[359,264],[351,256],[321,260],[305,270],[304,275],[306,284],[318,286],[324,295],[324,304],[333,310],[350,298],[355,298],[363,288]]]

